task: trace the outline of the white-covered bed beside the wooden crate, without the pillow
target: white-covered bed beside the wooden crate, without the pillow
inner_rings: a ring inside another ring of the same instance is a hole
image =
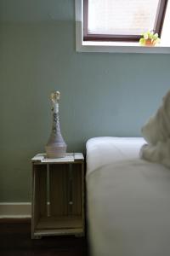
[[[170,170],[139,158],[143,138],[87,143],[92,256],[170,255]]]

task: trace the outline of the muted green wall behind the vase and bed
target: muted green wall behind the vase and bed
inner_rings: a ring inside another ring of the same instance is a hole
[[[48,140],[52,90],[61,92],[68,151],[84,151],[90,137],[139,137],[170,87],[170,55],[77,53],[73,1],[46,4],[56,2],[58,16],[41,10],[36,20],[35,9],[20,16],[0,1],[0,201],[31,200],[31,157]]]

